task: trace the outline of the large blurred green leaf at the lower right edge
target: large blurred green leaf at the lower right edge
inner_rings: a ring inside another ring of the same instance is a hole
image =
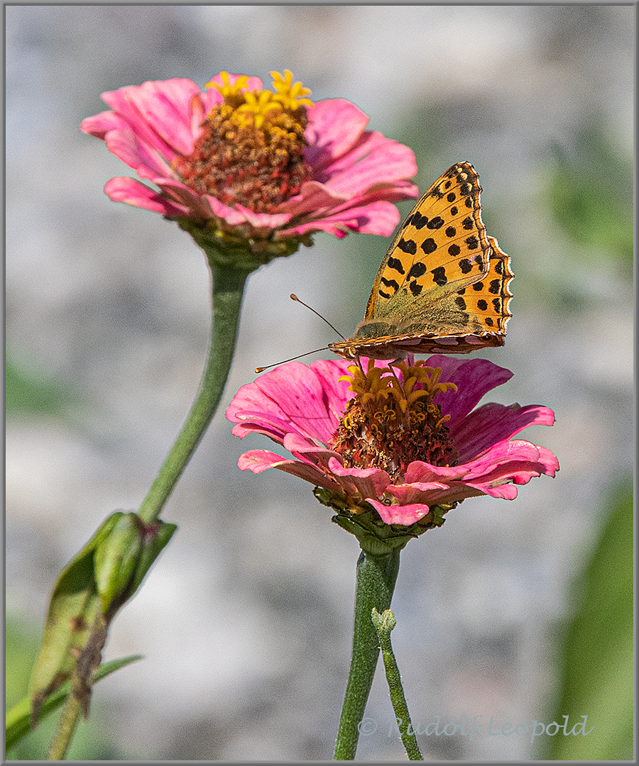
[[[568,732],[587,715],[585,732],[545,738],[552,761],[624,761],[633,751],[633,515],[620,489],[583,573],[581,601],[565,636],[562,691],[554,720]]]

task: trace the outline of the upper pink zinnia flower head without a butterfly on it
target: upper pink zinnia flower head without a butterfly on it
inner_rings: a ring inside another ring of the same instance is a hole
[[[106,194],[239,234],[255,250],[291,238],[309,244],[314,231],[391,234],[399,221],[391,203],[417,196],[407,180],[417,173],[413,152],[367,130],[354,104],[314,104],[290,72],[271,74],[275,93],[258,77],[227,72],[204,92],[174,78],[102,93],[112,111],[87,117],[81,130],[160,189],[117,177]]]

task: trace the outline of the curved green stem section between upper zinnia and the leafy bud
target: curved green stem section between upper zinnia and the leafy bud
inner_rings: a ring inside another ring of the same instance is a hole
[[[180,479],[215,414],[229,375],[236,346],[244,283],[249,272],[232,267],[216,267],[213,264],[211,271],[212,328],[209,358],[196,401],[193,402],[180,435],[138,510],[138,515],[147,524],[160,516],[164,503],[169,499],[173,487]]]

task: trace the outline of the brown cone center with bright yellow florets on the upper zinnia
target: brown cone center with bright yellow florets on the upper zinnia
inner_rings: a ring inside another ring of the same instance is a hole
[[[173,162],[183,183],[198,194],[273,213],[310,177],[304,131],[311,91],[293,83],[288,70],[271,74],[275,92],[248,90],[246,75],[231,83],[228,72],[220,73],[222,83],[206,83],[223,100],[206,116],[191,155]]]

